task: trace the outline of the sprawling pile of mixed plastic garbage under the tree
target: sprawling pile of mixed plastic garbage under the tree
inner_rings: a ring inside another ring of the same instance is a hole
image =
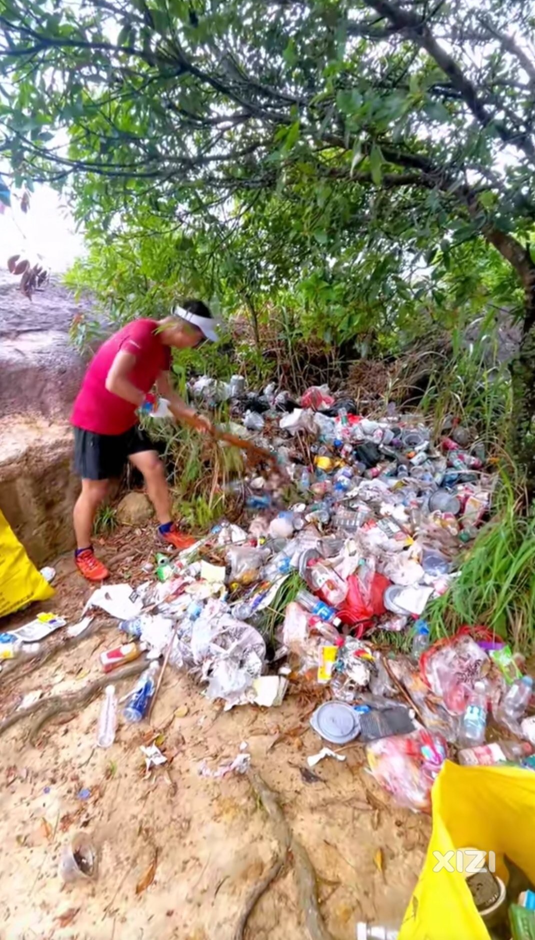
[[[367,744],[371,773],[405,806],[429,810],[447,756],[535,769],[521,658],[480,627],[432,644],[425,620],[490,509],[495,478],[480,444],[453,421],[433,437],[417,415],[371,420],[324,386],[294,401],[273,386],[246,394],[241,377],[224,385],[205,377],[192,390],[231,399],[234,430],[275,454],[276,469],[230,484],[243,525],[222,521],[180,555],[156,556],[134,591],[105,586],[89,599],[84,614],[102,608],[124,640],[102,668],[143,652],[151,661],[126,720],[147,715],[166,667],[187,670],[227,709],[275,707],[306,682],[323,699],[311,727],[327,744]],[[388,633],[406,635],[408,651],[388,649]],[[117,703],[104,706],[105,745]],[[503,740],[485,744],[489,717]]]

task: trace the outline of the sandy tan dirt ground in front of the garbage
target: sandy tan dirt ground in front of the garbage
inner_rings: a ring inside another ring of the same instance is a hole
[[[146,533],[125,529],[100,550],[116,582],[146,578],[141,565],[150,553]],[[74,623],[91,588],[71,557],[59,559],[56,570],[55,598],[40,607]],[[2,629],[33,614],[31,608],[4,619]],[[61,645],[61,633],[47,642]],[[0,717],[33,689],[57,695],[83,688],[102,674],[99,653],[120,637],[109,626],[74,649],[59,650],[31,675],[17,672],[14,680],[0,674]],[[119,696],[132,682],[121,684]],[[320,763],[321,781],[305,781],[307,755],[322,746],[307,729],[313,699],[291,690],[279,708],[251,705],[225,713],[188,676],[169,669],[150,723],[133,728],[119,719],[108,750],[96,746],[101,704],[97,698],[71,720],[46,725],[37,746],[26,741],[31,719],[0,738],[0,940],[232,940],[277,843],[246,777],[209,779],[199,776],[198,765],[207,760],[216,768],[234,758],[242,742],[307,848],[333,936],[350,940],[357,920],[400,924],[430,820],[394,806],[366,772],[359,744],[342,749],[344,763]],[[183,706],[187,714],[180,717]],[[303,730],[284,736],[295,729]],[[139,745],[158,735],[168,762],[146,776]],[[100,854],[98,877],[63,885],[58,862],[77,832]],[[153,881],[140,890],[154,860]],[[307,937],[291,862],[261,897],[245,936]]]

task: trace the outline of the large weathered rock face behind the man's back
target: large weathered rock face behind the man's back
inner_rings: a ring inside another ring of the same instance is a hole
[[[87,304],[54,279],[30,301],[18,280],[0,272],[0,509],[40,566],[74,544],[69,415],[85,364],[69,328]]]

